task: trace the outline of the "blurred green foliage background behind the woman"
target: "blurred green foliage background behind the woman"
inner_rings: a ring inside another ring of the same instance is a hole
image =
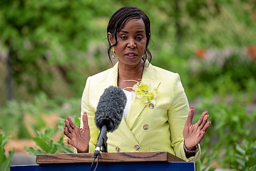
[[[112,66],[106,26],[122,6],[137,6],[150,17],[153,65],[179,73],[197,113],[208,110],[212,126],[202,148],[209,155],[201,162],[209,165],[205,159],[216,154],[208,161],[244,167],[233,154],[243,139],[255,141],[255,108],[248,110],[256,103],[256,57],[248,53],[254,47],[256,56],[254,0],[0,1],[0,129],[31,138],[25,115],[35,119],[37,135],[47,127],[41,115],[79,117],[86,78]],[[7,58],[13,101],[5,98]]]

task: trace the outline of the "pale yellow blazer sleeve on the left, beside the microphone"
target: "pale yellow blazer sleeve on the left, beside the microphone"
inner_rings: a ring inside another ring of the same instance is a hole
[[[86,86],[83,90],[82,93],[82,99],[81,99],[81,119],[80,119],[80,127],[83,127],[83,122],[82,122],[82,115],[84,112],[87,113],[88,116],[88,124],[90,127],[90,142],[89,142],[89,153],[93,153],[94,149],[95,149],[95,144],[97,143],[97,137],[99,134],[99,131],[96,127],[96,125],[94,124],[94,111],[92,110],[91,106],[90,106],[90,78],[87,78],[86,81]]]

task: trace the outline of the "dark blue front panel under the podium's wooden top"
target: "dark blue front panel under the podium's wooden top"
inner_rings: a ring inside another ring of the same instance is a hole
[[[91,170],[91,163],[75,164],[43,164],[43,165],[17,165],[11,166],[11,171],[70,171],[70,170]],[[120,170],[120,171],[167,171],[167,170],[196,170],[195,162],[118,162],[99,163],[98,171]]]

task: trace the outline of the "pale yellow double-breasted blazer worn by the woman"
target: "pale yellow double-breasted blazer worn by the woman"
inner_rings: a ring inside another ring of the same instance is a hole
[[[81,101],[81,116],[88,114],[91,140],[89,153],[95,150],[99,130],[94,115],[101,94],[109,86],[117,86],[118,62],[101,73],[88,77]],[[195,157],[186,158],[183,148],[183,127],[189,111],[187,97],[180,77],[151,64],[144,68],[142,82],[158,88],[154,109],[135,97],[126,120],[122,119],[116,131],[108,133],[109,152],[169,152],[186,161],[195,161],[200,156],[200,147]],[[82,117],[81,117],[82,118]],[[81,120],[80,127],[83,126]],[[147,127],[147,129],[144,129]]]

